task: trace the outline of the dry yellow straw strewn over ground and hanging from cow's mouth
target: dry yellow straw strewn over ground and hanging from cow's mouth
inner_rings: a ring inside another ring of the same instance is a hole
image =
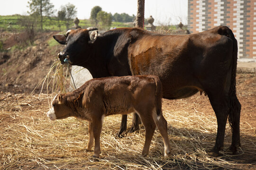
[[[51,93],[65,92],[67,71],[55,62],[41,82]],[[57,82],[57,83],[56,83]],[[39,98],[40,95],[40,98]],[[164,144],[158,130],[155,131],[147,157],[141,157],[145,141],[145,129],[117,138],[121,116],[106,117],[101,133],[101,158],[93,160],[93,152],[86,152],[88,124],[75,118],[50,121],[46,117],[47,102],[53,95],[2,93],[0,97],[0,169],[1,170],[212,170],[243,169],[255,167],[239,156],[226,155],[212,158],[206,151],[213,147],[216,137],[215,116],[197,111],[196,104],[180,102],[180,110],[163,110],[168,122],[168,134],[173,149],[165,158]],[[166,102],[166,100],[164,100]],[[170,101],[168,101],[170,102]],[[178,102],[177,102],[178,103]],[[128,127],[131,116],[128,116]],[[255,130],[255,127],[251,127]],[[250,129],[241,128],[241,136],[249,136]],[[227,125],[225,148],[231,143]],[[256,153],[255,136],[241,141],[243,154]],[[254,162],[255,163],[255,162]]]

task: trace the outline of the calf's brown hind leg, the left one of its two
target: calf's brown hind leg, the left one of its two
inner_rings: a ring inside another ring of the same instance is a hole
[[[145,130],[146,130],[145,144],[144,144],[142,154],[141,154],[142,156],[146,156],[148,154],[151,140],[152,140],[152,137],[153,137],[154,131],[155,131],[155,122],[152,118],[152,115],[148,114],[151,112],[152,111],[146,111],[146,112],[139,111],[138,112],[140,119],[145,127]]]

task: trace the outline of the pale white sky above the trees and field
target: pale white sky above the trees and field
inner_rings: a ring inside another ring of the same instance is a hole
[[[28,0],[1,0],[0,15],[27,15]],[[136,15],[137,0],[50,0],[58,11],[61,5],[72,3],[77,8],[78,19],[89,19],[91,8],[100,6],[108,13]],[[145,0],[145,18],[152,15],[154,25],[187,24],[188,0]]]

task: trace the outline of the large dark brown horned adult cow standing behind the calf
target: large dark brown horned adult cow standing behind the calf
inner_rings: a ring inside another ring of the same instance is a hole
[[[87,68],[92,77],[155,75],[163,84],[163,97],[181,99],[200,91],[208,95],[218,130],[209,155],[223,150],[227,119],[232,129],[229,152],[240,146],[241,104],[236,95],[238,44],[227,26],[187,35],[156,34],[138,28],[118,28],[89,38],[95,27],[56,34],[66,44],[58,54],[64,63]],[[119,134],[126,129],[122,116]],[[136,122],[136,121],[135,121]],[[134,127],[137,127],[134,125]]]

